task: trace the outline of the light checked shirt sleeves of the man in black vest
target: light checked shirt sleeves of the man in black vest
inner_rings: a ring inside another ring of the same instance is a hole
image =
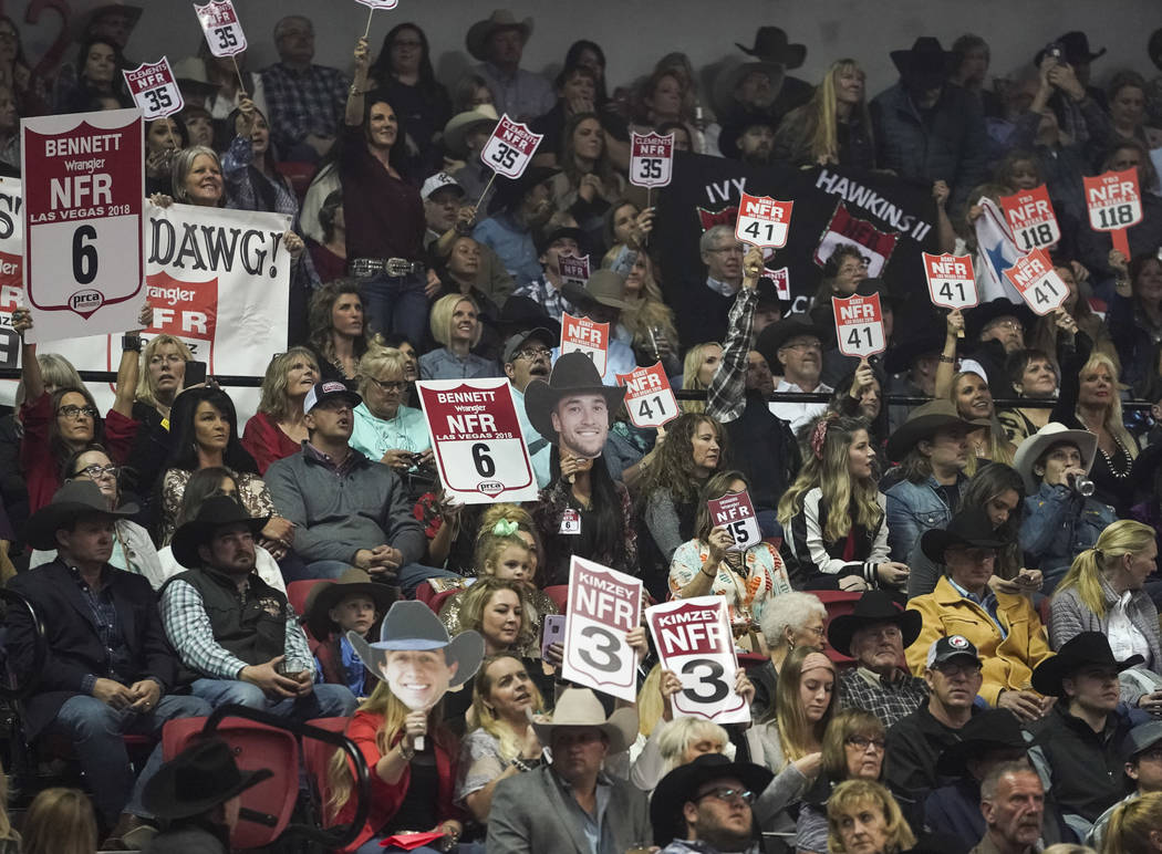
[[[243,590],[242,596],[246,595]],[[214,639],[214,625],[206,612],[202,595],[193,584],[174,579],[162,594],[162,622],[181,663],[209,679],[239,679],[246,662],[223,648]],[[315,669],[307,636],[299,626],[299,617],[287,604],[286,672],[301,673]]]

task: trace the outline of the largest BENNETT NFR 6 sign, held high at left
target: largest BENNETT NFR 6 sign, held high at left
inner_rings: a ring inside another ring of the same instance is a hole
[[[29,340],[123,332],[144,300],[144,132],[135,109],[24,119]]]

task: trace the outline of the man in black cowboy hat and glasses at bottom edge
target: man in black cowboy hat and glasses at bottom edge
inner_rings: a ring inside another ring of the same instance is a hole
[[[708,753],[658,783],[650,802],[654,841],[662,854],[758,851],[752,805],[774,774],[753,762]]]

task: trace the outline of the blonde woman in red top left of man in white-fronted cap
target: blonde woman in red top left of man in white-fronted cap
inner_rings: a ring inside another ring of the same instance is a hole
[[[266,366],[258,411],[242,431],[242,446],[254,458],[259,474],[302,450],[308,439],[302,402],[316,382],[318,361],[307,347],[290,347]]]

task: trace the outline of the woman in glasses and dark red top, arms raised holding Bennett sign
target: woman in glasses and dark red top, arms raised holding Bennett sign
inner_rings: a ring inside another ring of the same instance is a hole
[[[12,313],[12,328],[23,340],[24,332],[33,328],[33,316],[27,308]],[[138,343],[135,344],[135,339]],[[24,402],[21,404],[21,422],[24,437],[20,445],[20,462],[28,482],[30,514],[48,504],[60,488],[62,467],[70,454],[95,442],[103,445],[117,462],[129,457],[139,426],[132,417],[139,340],[132,333],[122,339],[127,349],[117,368],[116,397],[105,421],[93,395],[83,386],[62,387],[49,394],[41,374],[41,363],[36,359],[36,345],[22,344]]]

